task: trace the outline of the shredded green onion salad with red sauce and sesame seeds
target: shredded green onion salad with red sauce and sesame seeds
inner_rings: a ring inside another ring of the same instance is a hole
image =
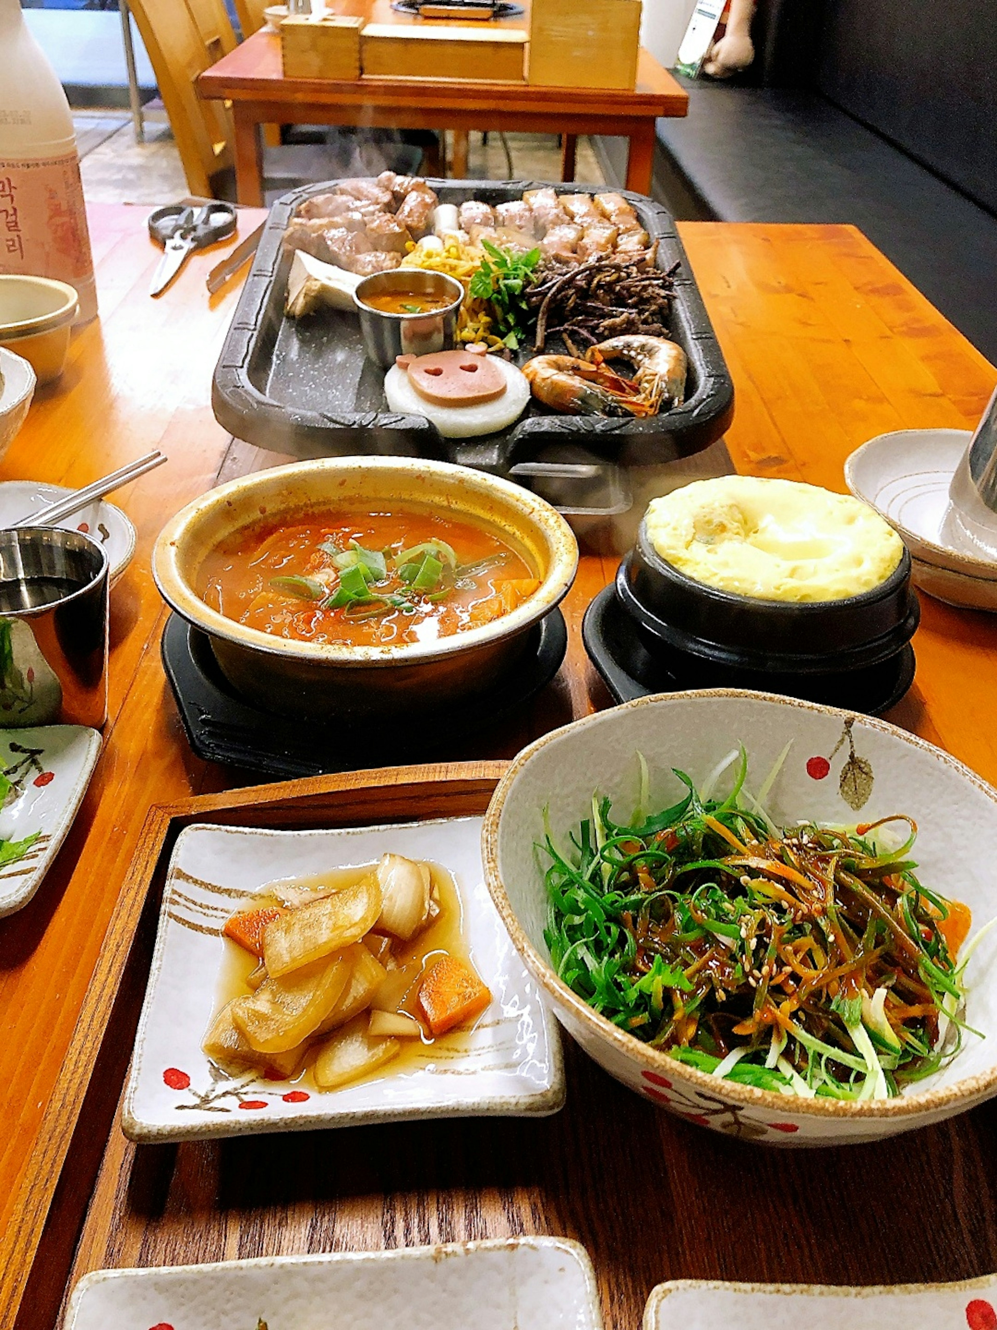
[[[702,790],[677,770],[685,793],[657,813],[641,757],[630,819],[596,794],[570,847],[545,817],[550,958],[614,1025],[702,1072],[888,1099],[958,1052],[981,934],[957,963],[969,910],[919,882],[905,814],[776,827],[762,805],[786,751],[759,799],[742,747]],[[730,794],[710,797],[732,766]]]

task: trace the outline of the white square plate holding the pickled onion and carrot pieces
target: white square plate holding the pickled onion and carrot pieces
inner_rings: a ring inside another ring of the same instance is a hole
[[[140,1141],[393,1123],[407,1117],[546,1115],[564,1104],[561,1044],[484,886],[481,818],[330,831],[195,825],[177,839],[128,1081],[124,1128]],[[215,1005],[219,928],[245,896],[277,878],[371,863],[386,851],[431,859],[457,882],[464,936],[492,1005],[467,1051],[415,1071],[316,1091],[226,1076],[201,1049]]]

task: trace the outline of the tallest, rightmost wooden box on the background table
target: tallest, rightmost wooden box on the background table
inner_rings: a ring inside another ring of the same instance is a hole
[[[631,92],[639,47],[641,0],[533,0],[526,82]]]

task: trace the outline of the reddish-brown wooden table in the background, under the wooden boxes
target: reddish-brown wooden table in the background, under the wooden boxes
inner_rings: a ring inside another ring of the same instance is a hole
[[[370,0],[344,0],[344,4],[352,4],[358,16],[371,12]],[[336,12],[340,11],[354,12],[338,4]],[[412,21],[395,15],[388,0],[375,0],[374,19]],[[506,21],[514,25],[517,20]],[[207,100],[231,101],[239,202],[253,205],[263,200],[259,125],[493,129],[564,134],[572,140],[577,134],[618,134],[630,140],[626,188],[647,194],[654,121],[661,116],[685,116],[689,108],[689,94],[643,48],[633,92],[460,78],[284,78],[280,39],[263,29],[206,69],[197,80],[197,90]]]

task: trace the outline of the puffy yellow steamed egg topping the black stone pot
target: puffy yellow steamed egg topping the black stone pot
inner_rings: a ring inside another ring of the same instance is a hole
[[[755,600],[860,596],[904,553],[900,536],[867,504],[796,480],[694,480],[653,499],[645,527],[658,555],[686,577]]]

